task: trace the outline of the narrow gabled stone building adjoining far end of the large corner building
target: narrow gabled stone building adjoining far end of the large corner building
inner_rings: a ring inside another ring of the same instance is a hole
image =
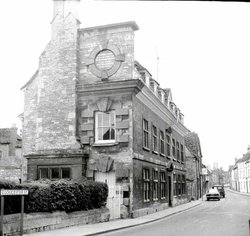
[[[202,153],[200,139],[196,133],[185,136],[187,193],[189,200],[196,200],[202,196]]]

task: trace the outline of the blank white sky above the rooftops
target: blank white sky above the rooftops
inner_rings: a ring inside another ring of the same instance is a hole
[[[1,2],[0,128],[20,127],[20,88],[51,38],[52,13],[52,0]],[[82,0],[80,21],[81,28],[137,23],[135,59],[171,88],[185,126],[199,135],[204,164],[227,170],[246,153],[250,3]]]

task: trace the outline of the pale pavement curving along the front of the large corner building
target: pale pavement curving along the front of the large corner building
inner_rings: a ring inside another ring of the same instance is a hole
[[[146,224],[149,222],[157,221],[163,219],[165,217],[189,210],[196,206],[201,205],[204,202],[202,199],[191,201],[186,204],[182,204],[180,206],[175,206],[173,208],[168,208],[163,211],[159,211],[153,214],[145,215],[142,217],[134,218],[134,219],[119,219],[104,223],[90,224],[90,225],[81,225],[81,226],[73,226],[70,228],[57,229],[52,231],[44,231],[33,234],[24,234],[26,236],[86,236],[86,235],[98,235],[100,233],[107,233],[116,231],[119,229],[130,228],[137,225]]]

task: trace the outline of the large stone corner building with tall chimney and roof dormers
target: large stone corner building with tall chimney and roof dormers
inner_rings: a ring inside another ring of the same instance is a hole
[[[28,179],[109,186],[111,219],[187,201],[183,114],[134,59],[135,22],[80,28],[79,0],[54,0],[52,38],[23,86]]]

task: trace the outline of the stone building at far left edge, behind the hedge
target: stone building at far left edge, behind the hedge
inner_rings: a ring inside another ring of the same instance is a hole
[[[17,128],[0,129],[0,180],[21,182],[26,179],[22,139]]]

